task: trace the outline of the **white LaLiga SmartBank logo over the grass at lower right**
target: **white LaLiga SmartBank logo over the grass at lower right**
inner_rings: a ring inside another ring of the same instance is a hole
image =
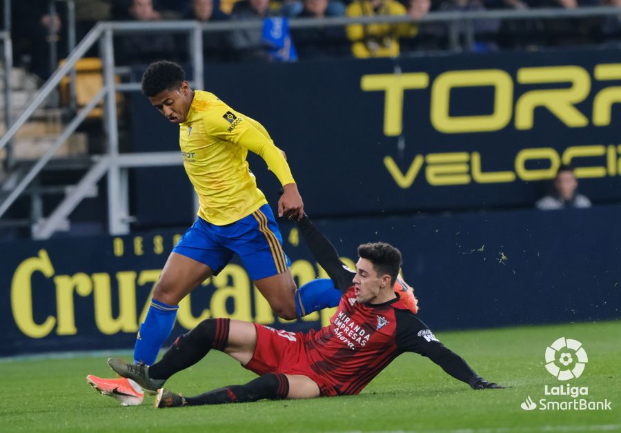
[[[546,370],[559,381],[578,379],[584,372],[589,357],[578,340],[561,337],[546,348]],[[546,398],[537,403],[528,396],[520,405],[523,410],[611,410],[608,399],[593,400],[589,396],[589,387],[575,386],[571,383],[562,385],[544,385]],[[580,397],[580,398],[579,398]]]

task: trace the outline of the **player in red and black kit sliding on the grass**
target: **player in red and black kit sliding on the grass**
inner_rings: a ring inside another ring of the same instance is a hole
[[[294,333],[257,323],[208,319],[179,336],[158,363],[146,366],[110,359],[112,368],[147,390],[158,389],[155,407],[358,394],[404,352],[428,357],[475,390],[502,388],[477,375],[461,356],[440,343],[395,294],[401,266],[397,248],[388,243],[360,245],[354,272],[306,215],[298,225],[315,259],[342,291],[330,325]],[[193,397],[163,388],[172,374],[194,365],[212,348],[232,356],[259,378]]]

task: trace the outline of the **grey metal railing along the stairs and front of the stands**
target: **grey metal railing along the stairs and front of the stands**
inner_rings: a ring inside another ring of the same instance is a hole
[[[475,20],[516,20],[516,19],[559,19],[575,17],[601,17],[620,14],[621,8],[584,8],[574,10],[541,9],[541,10],[497,10],[497,11],[467,11],[467,12],[434,12],[427,14],[421,23],[447,23],[451,32],[457,31],[460,23],[466,24],[466,43],[473,43]],[[389,17],[331,17],[324,19],[290,19],[290,28],[311,28],[315,26],[347,26],[349,24],[372,23],[405,23],[411,22],[408,16]],[[46,152],[28,173],[14,186],[8,197],[0,203],[0,217],[10,205],[23,193],[29,183],[37,177],[43,167],[50,161],[62,143],[75,132],[78,125],[86,119],[92,108],[104,101],[104,125],[106,130],[106,154],[93,157],[93,165],[84,177],[71,188],[65,199],[57,206],[49,217],[41,219],[32,225],[32,236],[36,239],[47,239],[55,231],[68,226],[68,216],[86,197],[89,197],[97,183],[107,176],[108,188],[108,231],[110,234],[126,234],[129,232],[128,203],[128,169],[136,167],[152,167],[162,165],[181,165],[179,152],[147,152],[141,154],[120,154],[119,137],[117,130],[117,92],[139,90],[139,83],[115,83],[115,52],[112,37],[118,34],[148,33],[148,32],[187,32],[190,41],[190,59],[193,69],[193,87],[203,88],[203,32],[226,32],[242,29],[259,29],[261,21],[235,21],[217,23],[199,23],[197,21],[157,21],[157,22],[102,22],[98,23],[86,37],[70,53],[65,63],[60,66],[48,81],[35,94],[30,105],[10,125],[6,134],[0,138],[0,149],[4,148],[13,139],[19,128],[32,116],[37,108],[46,100],[51,92],[59,85],[61,79],[75,68],[81,59],[95,43],[99,43],[100,55],[103,63],[103,88],[83,107],[57,138],[48,152]],[[467,35],[470,34],[468,37]],[[8,39],[10,41],[10,39]],[[466,47],[467,48],[467,47]]]

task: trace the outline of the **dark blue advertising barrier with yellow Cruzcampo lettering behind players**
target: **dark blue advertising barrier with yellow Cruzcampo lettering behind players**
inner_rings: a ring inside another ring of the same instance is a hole
[[[320,220],[317,226],[350,266],[359,243],[400,248],[420,318],[446,330],[621,318],[616,221],[621,206]],[[295,225],[283,223],[282,234],[297,282],[323,276]],[[0,356],[131,348],[177,236],[168,230],[0,243]],[[304,330],[330,313],[275,319],[234,262],[184,301],[173,336],[222,315]]]

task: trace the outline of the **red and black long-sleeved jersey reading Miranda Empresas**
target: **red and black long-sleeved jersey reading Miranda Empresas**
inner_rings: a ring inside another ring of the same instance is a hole
[[[313,223],[298,221],[313,256],[335,288],[343,292],[330,325],[305,336],[306,356],[315,374],[328,379],[337,394],[357,394],[397,356],[415,352],[466,383],[478,376],[459,355],[438,341],[431,330],[395,295],[380,303],[357,303],[349,270]]]

